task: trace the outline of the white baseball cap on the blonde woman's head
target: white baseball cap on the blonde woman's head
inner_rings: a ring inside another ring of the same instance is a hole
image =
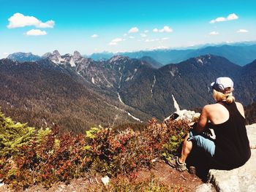
[[[219,77],[215,82],[211,82],[211,88],[222,93],[231,93],[234,90],[233,86],[234,82],[230,77]]]

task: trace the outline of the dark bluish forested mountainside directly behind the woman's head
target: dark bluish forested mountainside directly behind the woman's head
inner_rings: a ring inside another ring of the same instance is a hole
[[[209,84],[222,76],[236,80],[240,69],[225,58],[204,55],[158,70],[148,69],[120,93],[124,103],[162,119],[175,110],[173,96],[181,109],[203,107],[213,102]]]

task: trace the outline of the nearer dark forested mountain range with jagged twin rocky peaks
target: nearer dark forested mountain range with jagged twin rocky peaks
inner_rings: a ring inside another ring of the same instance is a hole
[[[225,76],[234,80],[238,101],[256,101],[256,61],[239,66],[207,54],[155,67],[147,59],[114,55],[94,61],[57,50],[36,62],[2,59],[1,110],[31,125],[57,123],[78,132],[152,116],[163,120],[176,110],[173,100],[181,109],[213,102],[209,85]]]

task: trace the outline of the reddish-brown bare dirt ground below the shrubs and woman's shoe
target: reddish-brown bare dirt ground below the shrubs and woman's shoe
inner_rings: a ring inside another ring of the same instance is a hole
[[[133,181],[136,183],[140,183],[146,180],[150,180],[151,177],[154,177],[159,183],[162,183],[166,186],[171,186],[173,183],[176,185],[181,186],[184,191],[195,191],[198,185],[203,184],[203,182],[198,178],[195,174],[189,174],[189,172],[178,172],[175,169],[172,169],[169,165],[165,162],[157,162],[154,168],[151,170],[148,169],[141,169],[136,174],[136,177]],[[110,179],[111,180],[114,179]],[[120,180],[120,177],[119,177]],[[28,192],[82,192],[82,191],[89,191],[90,188],[97,189],[102,186],[101,177],[97,176],[94,178],[86,179],[86,178],[79,178],[72,180],[68,185],[64,183],[55,183],[51,188],[48,190],[46,188],[42,188],[40,185],[35,185],[31,188],[26,189]],[[182,191],[183,191],[182,190]],[[6,186],[0,187],[1,192],[11,191]],[[96,190],[97,191],[97,190]]]

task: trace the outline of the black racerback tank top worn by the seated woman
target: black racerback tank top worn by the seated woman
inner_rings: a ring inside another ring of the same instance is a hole
[[[216,134],[213,166],[217,169],[234,169],[244,165],[251,156],[245,119],[235,102],[227,104],[222,101],[220,104],[227,108],[230,117],[224,123],[212,125]]]

